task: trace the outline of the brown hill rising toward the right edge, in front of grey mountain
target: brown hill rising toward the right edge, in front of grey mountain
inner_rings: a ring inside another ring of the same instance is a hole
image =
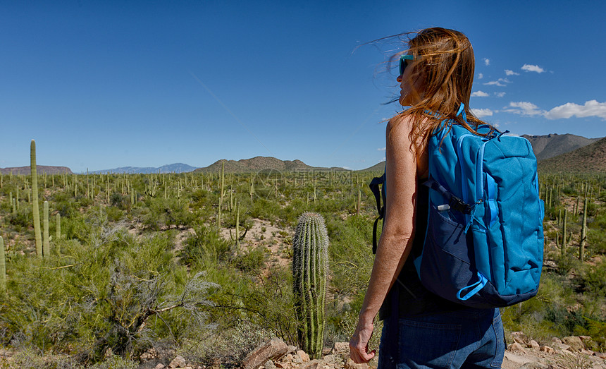
[[[538,162],[541,172],[606,173],[606,137],[566,154]]]

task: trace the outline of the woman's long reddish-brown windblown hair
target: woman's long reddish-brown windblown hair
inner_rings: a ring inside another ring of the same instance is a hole
[[[418,101],[400,116],[412,116],[413,128],[409,135],[416,152],[426,147],[428,138],[436,133],[444,119],[453,119],[474,133],[478,125],[485,124],[471,112],[469,97],[474,83],[474,49],[467,37],[459,31],[445,28],[426,28],[419,32],[399,35],[407,36],[408,49],[392,56],[391,61],[402,54],[416,56],[408,67],[410,93]],[[412,37],[412,38],[411,38]],[[414,81],[421,78],[421,90],[415,90]],[[461,103],[465,104],[466,124],[462,117],[455,116]]]

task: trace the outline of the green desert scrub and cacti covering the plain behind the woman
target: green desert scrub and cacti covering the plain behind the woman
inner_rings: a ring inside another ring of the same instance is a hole
[[[353,332],[378,173],[32,174],[0,175],[0,344],[16,357],[136,367],[170,352],[230,366],[271,337],[317,345],[302,334],[313,307],[293,291],[304,212],[322,215],[329,240],[323,346]],[[604,351],[606,176],[540,183],[540,291],[503,309],[505,327],[537,341],[587,335]]]

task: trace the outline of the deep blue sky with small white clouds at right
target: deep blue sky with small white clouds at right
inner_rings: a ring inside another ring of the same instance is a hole
[[[402,108],[363,45],[440,26],[474,45],[471,107],[516,134],[606,135],[602,1],[3,1],[0,167],[364,169]]]

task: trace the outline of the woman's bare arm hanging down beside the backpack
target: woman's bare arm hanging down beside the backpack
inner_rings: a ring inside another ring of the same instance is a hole
[[[375,350],[368,351],[373,320],[412,249],[417,165],[409,140],[411,129],[411,117],[395,116],[386,130],[385,224],[358,325],[350,340],[350,356],[356,363],[366,363],[375,355]]]

